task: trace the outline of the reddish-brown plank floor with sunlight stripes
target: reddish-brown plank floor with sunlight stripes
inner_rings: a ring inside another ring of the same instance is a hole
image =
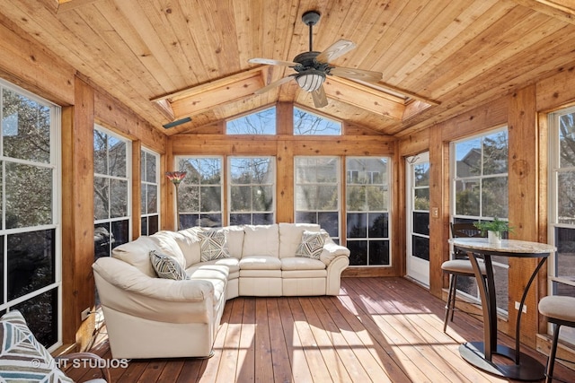
[[[337,297],[235,298],[226,303],[212,358],[134,360],[112,367],[111,378],[121,383],[507,381],[476,370],[459,355],[459,344],[482,338],[482,322],[458,312],[445,334],[443,314],[443,301],[403,278],[343,278]],[[505,335],[500,343],[513,344]],[[522,351],[545,362],[542,353]],[[92,352],[113,361],[105,327]],[[76,381],[97,375],[66,372]],[[560,365],[556,373],[565,381],[575,374]]]

